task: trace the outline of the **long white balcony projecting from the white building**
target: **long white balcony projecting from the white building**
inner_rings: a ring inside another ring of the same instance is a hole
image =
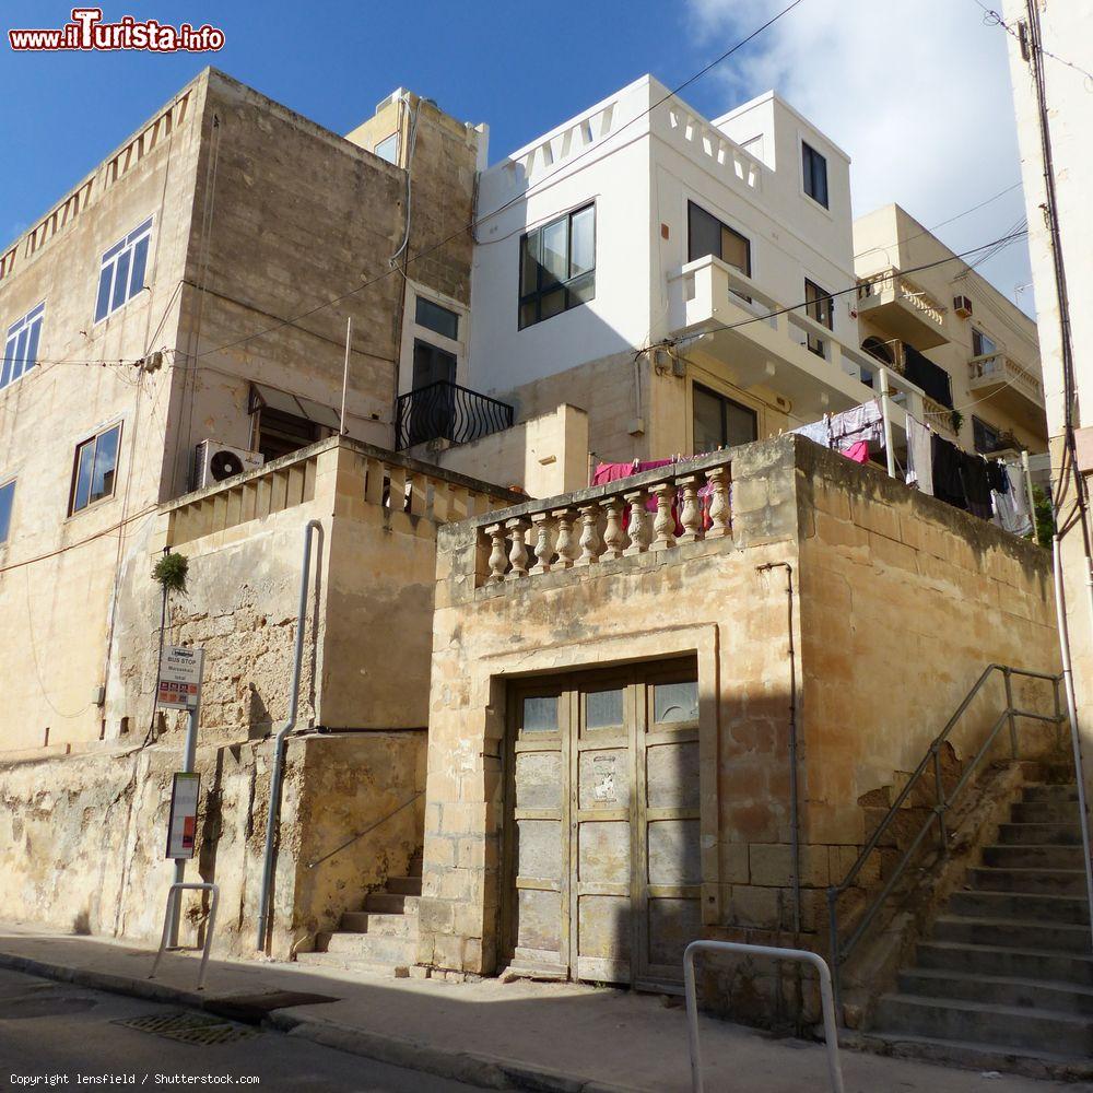
[[[882,374],[893,401],[922,415],[922,391],[915,383],[844,345],[803,309],[786,309],[717,258],[700,258],[670,275],[669,297],[677,334],[724,361],[740,387],[763,385],[789,399],[799,421],[816,421],[880,395]]]

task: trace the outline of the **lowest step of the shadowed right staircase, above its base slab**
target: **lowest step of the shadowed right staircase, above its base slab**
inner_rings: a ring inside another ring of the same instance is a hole
[[[1093,1018],[1056,1010],[992,1006],[962,998],[885,995],[877,1006],[879,1032],[997,1044],[1069,1056],[1093,1054]]]

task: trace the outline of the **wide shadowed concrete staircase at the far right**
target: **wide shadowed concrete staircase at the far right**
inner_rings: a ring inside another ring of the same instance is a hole
[[[1025,786],[869,1035],[984,1069],[1093,1058],[1089,922],[1077,788]]]

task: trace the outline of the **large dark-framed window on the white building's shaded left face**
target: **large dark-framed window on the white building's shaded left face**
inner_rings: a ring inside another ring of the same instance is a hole
[[[520,239],[520,329],[596,296],[596,205]]]

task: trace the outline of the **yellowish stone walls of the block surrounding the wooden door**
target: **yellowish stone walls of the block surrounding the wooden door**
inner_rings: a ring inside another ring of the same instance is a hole
[[[704,929],[823,949],[821,890],[845,875],[879,819],[868,810],[902,785],[986,665],[1057,670],[1037,548],[792,436],[736,449],[731,473],[730,538],[584,568],[486,584],[485,521],[442,530],[423,961],[490,972],[507,955],[498,863],[509,679],[697,653],[709,714],[701,747],[715,771],[713,796],[703,789]],[[604,495],[583,491],[550,507]],[[1051,710],[1041,687],[1019,701]],[[972,712],[952,762],[967,757],[987,716]],[[1021,737],[1037,747],[1034,731]],[[747,1008],[797,997],[800,984],[796,972],[736,967],[721,990]]]

